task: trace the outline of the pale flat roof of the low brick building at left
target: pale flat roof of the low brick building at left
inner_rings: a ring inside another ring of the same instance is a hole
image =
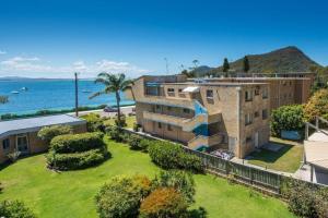
[[[86,123],[85,120],[72,116],[68,116],[68,114],[45,116],[45,117],[1,121],[0,137],[5,137],[12,134],[35,132],[44,126],[49,126],[49,125],[60,125],[60,124],[79,125],[84,123]]]

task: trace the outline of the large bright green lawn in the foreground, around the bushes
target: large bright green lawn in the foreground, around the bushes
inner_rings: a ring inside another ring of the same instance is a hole
[[[113,155],[104,164],[80,171],[56,173],[46,169],[44,155],[19,160],[0,171],[4,186],[0,199],[23,199],[39,217],[97,217],[94,196],[109,178],[126,174],[154,177],[159,168],[147,154],[107,141]],[[196,204],[209,218],[293,217],[285,204],[213,175],[195,175]]]

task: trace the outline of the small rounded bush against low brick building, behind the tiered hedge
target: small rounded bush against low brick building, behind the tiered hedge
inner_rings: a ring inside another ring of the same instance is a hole
[[[73,130],[69,125],[45,126],[38,131],[37,136],[47,143],[58,135],[72,134]]]

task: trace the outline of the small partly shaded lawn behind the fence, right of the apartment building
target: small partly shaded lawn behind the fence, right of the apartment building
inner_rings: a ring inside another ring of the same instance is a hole
[[[271,137],[270,141],[281,144],[283,147],[277,153],[266,149],[262,149],[260,153],[253,153],[253,159],[248,160],[248,162],[273,170],[295,172],[303,159],[303,145],[277,137]]]

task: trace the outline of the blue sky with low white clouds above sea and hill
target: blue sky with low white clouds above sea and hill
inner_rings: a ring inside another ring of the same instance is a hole
[[[324,0],[0,0],[0,76],[131,77],[285,46],[328,64]]]

